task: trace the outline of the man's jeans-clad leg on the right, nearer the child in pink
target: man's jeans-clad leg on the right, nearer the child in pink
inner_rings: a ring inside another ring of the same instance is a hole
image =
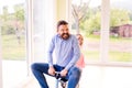
[[[68,86],[67,88],[76,88],[79,79],[80,79],[81,70],[77,67],[72,67],[68,73]]]

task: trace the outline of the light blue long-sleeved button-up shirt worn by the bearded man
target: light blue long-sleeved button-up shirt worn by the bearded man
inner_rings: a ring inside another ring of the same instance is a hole
[[[52,38],[47,52],[50,66],[53,66],[53,52],[55,52],[56,64],[67,70],[76,64],[80,56],[78,41],[72,34],[68,40],[63,40],[58,34]]]

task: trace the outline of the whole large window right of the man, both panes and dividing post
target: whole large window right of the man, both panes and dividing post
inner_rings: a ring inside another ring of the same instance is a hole
[[[132,63],[132,3],[110,0],[101,4],[101,1],[72,2],[72,29],[85,36],[86,62]]]

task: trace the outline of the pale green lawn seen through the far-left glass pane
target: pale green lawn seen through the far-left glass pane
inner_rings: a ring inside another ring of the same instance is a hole
[[[25,59],[25,40],[21,37],[19,44],[15,35],[2,35],[2,57],[3,59]]]

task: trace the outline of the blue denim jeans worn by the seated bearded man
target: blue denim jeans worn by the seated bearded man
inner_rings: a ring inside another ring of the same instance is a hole
[[[54,68],[55,68],[56,72],[61,72],[65,67],[54,65]],[[48,85],[47,85],[47,81],[45,79],[45,76],[44,76],[45,74],[50,75],[48,74],[48,64],[46,64],[46,63],[34,63],[34,64],[32,64],[31,69],[32,69],[33,75],[37,79],[38,84],[41,85],[41,88],[50,88]],[[76,88],[76,86],[77,86],[77,84],[80,79],[80,74],[81,74],[81,72],[77,67],[72,67],[68,70],[68,74],[66,76],[66,78],[68,79],[67,88]]]

